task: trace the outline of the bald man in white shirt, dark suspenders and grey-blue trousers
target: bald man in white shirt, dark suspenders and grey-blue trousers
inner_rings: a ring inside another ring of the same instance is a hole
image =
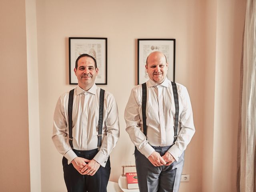
[[[184,151],[194,135],[186,87],[166,77],[162,52],[146,60],[149,80],[135,86],[126,105],[126,132],[135,145],[140,192],[178,192]]]

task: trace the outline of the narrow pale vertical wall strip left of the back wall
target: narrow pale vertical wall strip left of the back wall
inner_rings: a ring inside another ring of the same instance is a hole
[[[36,0],[25,0],[28,68],[30,190],[41,191]]]

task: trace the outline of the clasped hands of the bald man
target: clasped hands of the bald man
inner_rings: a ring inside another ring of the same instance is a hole
[[[148,156],[148,160],[154,166],[168,166],[175,161],[174,157],[168,151],[163,156],[160,156],[158,152],[154,151],[150,156]]]

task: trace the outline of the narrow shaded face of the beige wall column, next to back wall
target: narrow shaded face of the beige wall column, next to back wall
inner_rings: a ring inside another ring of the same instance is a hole
[[[205,80],[204,80],[204,122],[202,138],[202,191],[213,190],[213,133],[214,133],[214,92],[216,68],[216,18],[217,2],[206,1],[205,22]]]

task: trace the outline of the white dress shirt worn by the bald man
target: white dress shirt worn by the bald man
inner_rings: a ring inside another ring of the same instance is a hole
[[[142,122],[142,86],[135,86],[126,105],[124,118],[126,131],[138,150],[148,158],[152,146],[170,146],[174,142],[175,105],[172,83],[165,78],[162,84],[148,80],[146,123],[147,137],[143,134]],[[186,87],[176,83],[179,99],[178,137],[168,150],[178,161],[182,152],[194,135],[192,107]]]

